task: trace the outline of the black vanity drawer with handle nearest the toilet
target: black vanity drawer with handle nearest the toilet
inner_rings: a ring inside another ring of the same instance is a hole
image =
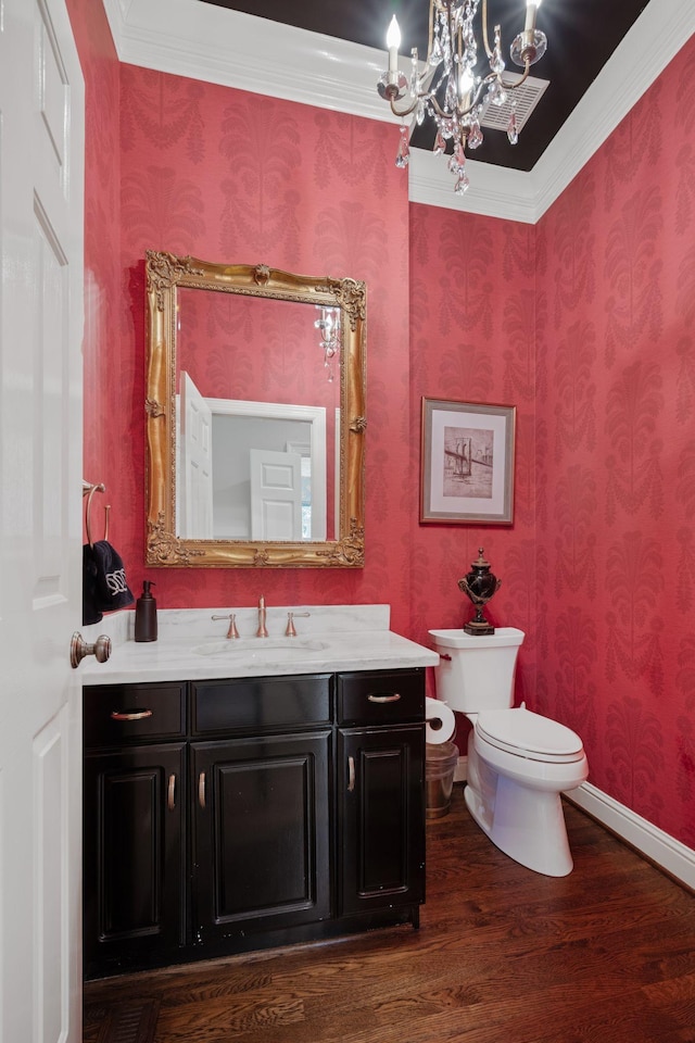
[[[376,725],[425,718],[425,670],[338,675],[338,721]]]

